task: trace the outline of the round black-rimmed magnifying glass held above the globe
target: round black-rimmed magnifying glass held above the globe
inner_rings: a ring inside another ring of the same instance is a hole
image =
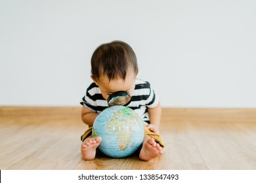
[[[107,101],[109,106],[114,106],[114,105],[127,106],[129,105],[129,103],[131,103],[131,94],[126,91],[114,92],[108,97]]]

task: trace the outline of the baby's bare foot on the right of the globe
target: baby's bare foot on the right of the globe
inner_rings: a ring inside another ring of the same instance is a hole
[[[139,158],[144,161],[150,161],[161,154],[163,154],[161,146],[153,138],[150,138],[143,143]]]

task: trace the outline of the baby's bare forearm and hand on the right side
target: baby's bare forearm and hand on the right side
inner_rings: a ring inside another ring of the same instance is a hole
[[[160,120],[161,120],[161,105],[158,105],[154,108],[148,108],[148,116],[150,118],[150,124],[148,128],[150,131],[155,133],[160,133]]]

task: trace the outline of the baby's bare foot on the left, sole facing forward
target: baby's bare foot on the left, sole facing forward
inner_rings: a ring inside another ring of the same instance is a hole
[[[100,142],[102,141],[101,137],[88,137],[83,141],[81,144],[81,154],[83,156],[83,159],[85,160],[92,160],[95,159],[96,155],[96,148],[100,145]]]

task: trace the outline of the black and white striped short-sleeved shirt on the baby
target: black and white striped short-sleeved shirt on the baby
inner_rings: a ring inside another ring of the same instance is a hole
[[[159,99],[154,90],[151,88],[150,83],[136,79],[135,91],[131,97],[131,103],[129,103],[127,107],[135,110],[135,112],[140,115],[144,122],[150,123],[147,108],[154,108],[158,105],[158,103]],[[87,88],[87,92],[80,104],[89,110],[98,113],[109,107],[108,101],[102,97],[100,88],[96,86],[95,82],[93,82],[89,88]]]

